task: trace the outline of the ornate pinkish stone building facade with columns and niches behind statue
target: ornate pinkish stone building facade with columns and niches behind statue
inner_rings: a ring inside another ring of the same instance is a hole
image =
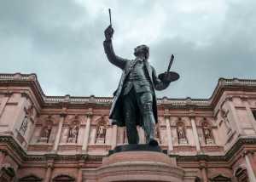
[[[35,74],[0,74],[0,181],[90,181],[127,143],[125,128],[109,125],[111,101],[46,96]],[[256,181],[256,80],[220,78],[207,100],[157,102],[155,137],[187,178]]]

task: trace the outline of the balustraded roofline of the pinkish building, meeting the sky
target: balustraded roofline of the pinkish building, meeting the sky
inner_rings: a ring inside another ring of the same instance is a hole
[[[43,102],[42,104],[57,104],[62,102],[67,102],[70,104],[85,104],[85,103],[100,103],[100,104],[110,104],[113,97],[96,97],[94,95],[90,96],[71,96],[69,94],[64,96],[47,96],[44,94],[43,89],[38,82],[38,77],[35,73],[32,74],[21,74],[21,73],[0,73],[0,84],[4,83],[20,83],[22,85],[31,86],[34,94],[37,94],[39,99]],[[213,93],[208,99],[192,99],[187,98],[158,98],[157,102],[159,105],[198,105],[198,106],[212,106],[218,101],[219,97],[223,94],[226,89],[244,89],[253,88],[256,91],[256,79],[239,79],[239,78],[224,78],[220,77],[218,79],[218,84],[214,88]]]

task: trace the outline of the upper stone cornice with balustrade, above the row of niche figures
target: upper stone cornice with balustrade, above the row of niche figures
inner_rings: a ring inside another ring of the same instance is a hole
[[[19,85],[29,86],[33,93],[38,98],[38,103],[45,107],[63,107],[69,105],[72,107],[81,108],[105,106],[109,107],[112,103],[112,97],[74,97],[70,95],[65,96],[46,96],[38,82],[36,74],[0,74],[0,85]],[[225,79],[219,78],[218,84],[214,89],[212,96],[209,99],[169,99],[166,97],[157,99],[159,106],[170,107],[172,109],[206,109],[212,110],[218,103],[219,98],[224,90],[253,90],[256,91],[256,80],[248,79]]]

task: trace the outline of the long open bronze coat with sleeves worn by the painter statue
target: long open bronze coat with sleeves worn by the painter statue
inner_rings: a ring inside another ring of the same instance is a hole
[[[110,109],[109,118],[111,123],[114,125],[118,125],[119,127],[125,126],[125,120],[124,120],[124,111],[123,111],[123,100],[121,97],[121,92],[123,90],[125,78],[129,75],[131,72],[133,65],[135,65],[135,60],[125,60],[123,58],[120,58],[116,54],[114,54],[113,51],[113,45],[111,40],[105,40],[103,42],[105,53],[107,54],[109,62],[111,62],[113,65],[118,66],[120,69],[123,70],[121,79],[119,81],[119,86],[116,89],[116,91],[113,93],[113,103]],[[154,89],[156,90],[162,90],[168,87],[170,82],[162,82],[158,77],[156,77],[156,72],[154,70],[154,67],[152,65],[148,64],[148,61],[146,62],[146,71],[148,71],[148,75],[150,77],[150,83],[153,86],[153,92]],[[154,112],[154,120],[157,122],[157,105],[156,105],[156,98],[155,94],[154,100],[153,100],[153,112]],[[142,122],[142,116],[137,116],[137,125],[143,126]]]

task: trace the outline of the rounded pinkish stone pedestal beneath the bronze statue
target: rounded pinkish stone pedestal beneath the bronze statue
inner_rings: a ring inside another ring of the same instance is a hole
[[[188,181],[185,180],[185,171],[177,167],[175,158],[158,151],[159,146],[154,151],[147,151],[146,145],[139,146],[141,150],[137,151],[130,151],[127,145],[122,149],[118,147],[113,150],[113,154],[103,159],[102,167],[85,169],[83,181]]]

